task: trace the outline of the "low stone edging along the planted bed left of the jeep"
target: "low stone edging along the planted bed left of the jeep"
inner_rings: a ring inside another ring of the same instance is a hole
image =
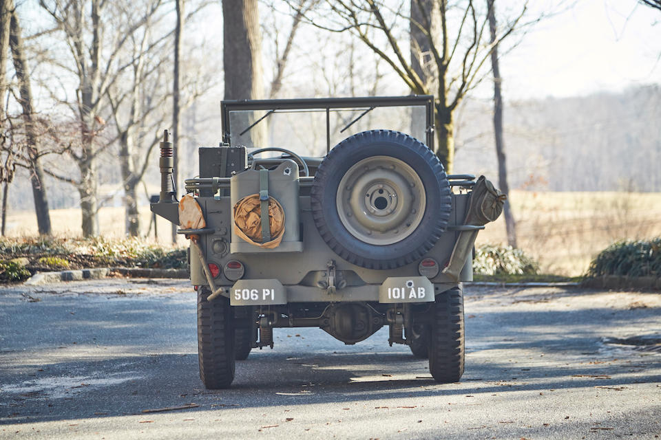
[[[133,278],[188,278],[187,269],[148,269],[145,267],[98,267],[95,269],[36,272],[23,285],[35,286],[59,281],[98,280],[111,272]]]

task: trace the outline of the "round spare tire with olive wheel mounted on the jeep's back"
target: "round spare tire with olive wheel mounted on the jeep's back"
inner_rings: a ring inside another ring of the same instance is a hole
[[[419,140],[390,130],[347,137],[319,165],[311,190],[319,234],[342,259],[369,269],[419,260],[450,218],[450,184]]]

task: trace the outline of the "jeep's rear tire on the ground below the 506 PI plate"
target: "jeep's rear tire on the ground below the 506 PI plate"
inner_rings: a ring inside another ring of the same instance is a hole
[[[209,390],[228,388],[234,380],[234,329],[229,299],[208,301],[207,287],[198,290],[198,359],[200,379]]]

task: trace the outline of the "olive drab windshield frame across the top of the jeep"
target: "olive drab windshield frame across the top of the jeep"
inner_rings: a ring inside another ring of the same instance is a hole
[[[375,107],[425,107],[426,144],[434,151],[434,96],[366,96],[361,98],[299,98],[265,100],[224,100],[220,102],[222,113],[222,142],[230,144],[231,128],[229,123],[232,111],[275,111],[318,109],[326,111],[326,153],[330,151],[330,110]],[[271,112],[272,113],[272,112]],[[270,113],[269,113],[270,114]],[[266,118],[266,115],[262,119]],[[261,119],[260,119],[261,121]],[[259,121],[258,121],[259,122]],[[254,125],[254,124],[253,124]],[[251,127],[249,127],[251,128]],[[230,145],[231,146],[231,145]]]

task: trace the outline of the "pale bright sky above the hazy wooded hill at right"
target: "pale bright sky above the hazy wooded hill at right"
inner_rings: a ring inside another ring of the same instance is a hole
[[[503,93],[565,97],[658,84],[660,55],[661,11],[635,0],[578,0],[537,23],[503,57]]]

